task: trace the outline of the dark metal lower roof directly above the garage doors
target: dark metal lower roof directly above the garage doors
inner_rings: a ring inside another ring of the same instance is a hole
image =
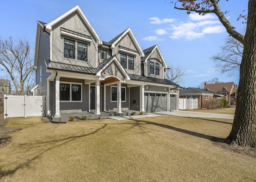
[[[168,79],[158,79],[158,78],[152,78],[152,77],[145,77],[142,75],[132,75],[132,74],[128,74],[130,76],[131,80],[135,80],[135,81],[146,81],[146,82],[151,82],[151,83],[161,83],[161,84],[165,84],[165,85],[174,85],[174,86],[179,86],[176,83],[173,83],[172,81],[168,80]]]

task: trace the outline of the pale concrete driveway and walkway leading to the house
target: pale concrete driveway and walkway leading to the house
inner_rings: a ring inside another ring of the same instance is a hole
[[[116,120],[123,119],[136,119],[143,117],[156,117],[156,116],[179,116],[179,117],[202,117],[202,118],[223,118],[223,119],[234,119],[234,115],[216,114],[216,113],[201,113],[193,111],[163,111],[156,113],[147,113],[146,115],[135,115],[135,116],[113,116],[108,117]]]

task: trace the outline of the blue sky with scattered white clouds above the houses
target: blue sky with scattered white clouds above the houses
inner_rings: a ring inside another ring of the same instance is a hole
[[[236,30],[236,21],[247,0],[220,0],[222,11]],[[222,82],[239,82],[239,72],[231,77],[216,72],[213,55],[228,38],[213,14],[198,16],[174,9],[168,0],[0,0],[0,36],[27,38],[34,47],[37,20],[50,22],[79,4],[103,41],[110,41],[131,28],[142,49],[158,44],[168,65],[186,70],[182,87],[197,87],[202,81],[218,77]]]

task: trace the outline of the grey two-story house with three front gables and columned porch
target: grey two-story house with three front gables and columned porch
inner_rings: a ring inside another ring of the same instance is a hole
[[[143,51],[130,28],[104,42],[78,5],[38,21],[34,67],[48,115],[178,109],[179,85],[166,79],[158,45]]]

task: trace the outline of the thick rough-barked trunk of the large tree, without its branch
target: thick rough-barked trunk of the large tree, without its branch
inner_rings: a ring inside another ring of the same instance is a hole
[[[256,147],[256,0],[249,0],[236,112],[228,140]]]

